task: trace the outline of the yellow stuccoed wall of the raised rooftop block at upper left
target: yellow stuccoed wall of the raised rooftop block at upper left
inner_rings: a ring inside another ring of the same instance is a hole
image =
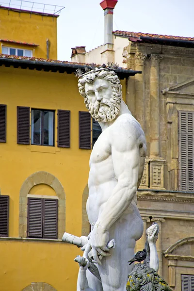
[[[7,47],[32,49],[33,57],[44,59],[47,59],[46,41],[49,39],[49,58],[57,59],[57,17],[8,11],[0,8],[0,38],[39,45],[31,47],[2,42],[2,45]]]

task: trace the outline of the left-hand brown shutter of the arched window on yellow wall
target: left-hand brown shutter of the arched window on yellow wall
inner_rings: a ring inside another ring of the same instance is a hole
[[[28,198],[28,237],[43,236],[43,203],[41,198]]]

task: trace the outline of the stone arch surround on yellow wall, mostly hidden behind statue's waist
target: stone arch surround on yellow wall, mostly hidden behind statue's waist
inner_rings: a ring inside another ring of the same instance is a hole
[[[88,185],[83,190],[82,194],[82,225],[81,225],[81,235],[88,236],[90,233],[90,223],[88,220],[88,215],[86,211],[86,202],[88,199],[89,189]]]

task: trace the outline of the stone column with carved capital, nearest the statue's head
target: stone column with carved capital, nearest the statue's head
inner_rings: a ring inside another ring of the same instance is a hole
[[[135,75],[135,117],[145,130],[145,80],[144,66],[147,54],[137,52],[135,54],[135,69],[142,71],[142,74]]]

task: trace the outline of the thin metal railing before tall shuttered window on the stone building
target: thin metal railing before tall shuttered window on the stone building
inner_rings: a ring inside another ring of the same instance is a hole
[[[168,175],[170,190],[194,192],[194,170],[173,169]]]

